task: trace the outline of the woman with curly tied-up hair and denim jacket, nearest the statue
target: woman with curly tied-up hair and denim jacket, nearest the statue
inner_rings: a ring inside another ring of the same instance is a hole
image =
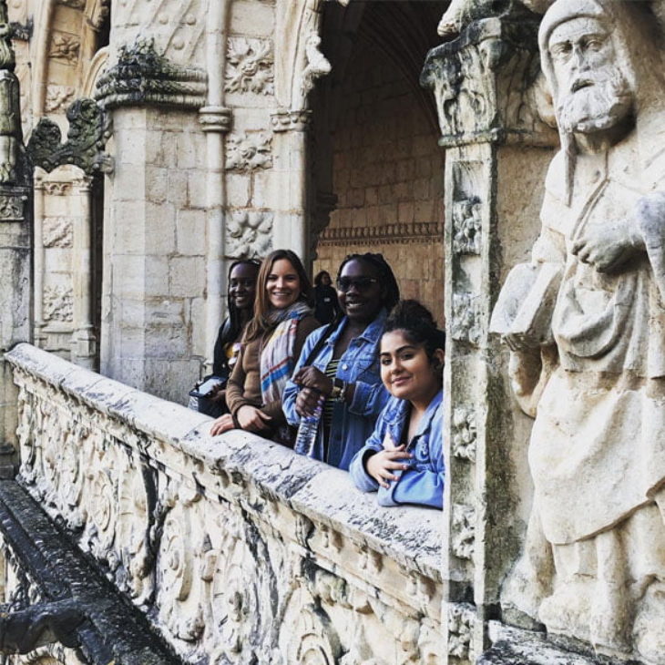
[[[350,468],[381,506],[444,505],[444,347],[445,333],[418,302],[400,303],[386,322],[379,358],[392,397]]]

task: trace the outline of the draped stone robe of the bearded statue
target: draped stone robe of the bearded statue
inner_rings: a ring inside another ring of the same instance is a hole
[[[549,170],[533,254],[564,266],[552,317],[559,364],[537,406],[534,515],[521,582],[506,596],[537,590],[523,609],[548,629],[620,651],[636,603],[665,580],[665,219],[636,215],[642,197],[665,191],[665,133],[633,131],[608,152],[578,156],[569,206],[562,161]],[[617,271],[571,253],[580,235],[627,219],[647,251]]]

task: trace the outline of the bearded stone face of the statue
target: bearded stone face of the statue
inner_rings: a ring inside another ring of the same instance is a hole
[[[633,92],[619,63],[613,37],[598,20],[573,18],[549,37],[557,79],[558,122],[566,132],[609,129],[632,110]]]

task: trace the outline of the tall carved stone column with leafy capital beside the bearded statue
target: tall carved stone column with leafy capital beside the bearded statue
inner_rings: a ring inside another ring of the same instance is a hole
[[[526,527],[530,421],[488,324],[539,229],[554,131],[537,116],[537,24],[476,21],[427,56],[445,154],[445,662],[475,662]]]

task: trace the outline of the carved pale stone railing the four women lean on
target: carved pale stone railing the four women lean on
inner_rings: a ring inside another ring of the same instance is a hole
[[[440,662],[440,512],[28,344],[6,360],[19,482],[184,660]]]

